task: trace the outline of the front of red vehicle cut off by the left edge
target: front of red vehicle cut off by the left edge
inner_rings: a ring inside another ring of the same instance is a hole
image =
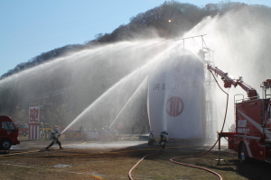
[[[18,128],[8,116],[0,116],[0,149],[8,150],[12,145],[20,144]]]

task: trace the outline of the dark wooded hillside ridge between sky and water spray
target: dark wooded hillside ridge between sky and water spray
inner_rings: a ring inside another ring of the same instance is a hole
[[[240,8],[260,8],[263,11],[271,11],[264,5],[248,5],[244,3],[220,2],[219,4],[206,4],[198,7],[194,4],[182,4],[178,1],[166,1],[151,10],[142,14],[136,14],[130,18],[130,23],[121,24],[111,33],[99,33],[95,40],[86,41],[84,44],[70,44],[61,48],[42,52],[40,55],[31,58],[27,62],[18,64],[6,72],[1,78],[14,75],[30,67],[38,66],[54,58],[62,57],[65,54],[76,52],[82,49],[91,49],[105,43],[117,42],[120,40],[151,39],[160,37],[174,39],[182,37],[185,31],[189,31],[202,19],[208,16],[223,15],[229,11],[237,11]],[[171,23],[169,23],[171,21]]]

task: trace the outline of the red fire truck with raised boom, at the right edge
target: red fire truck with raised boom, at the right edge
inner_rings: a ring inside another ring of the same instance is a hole
[[[244,83],[241,77],[234,79],[211,65],[207,68],[221,76],[225,88],[239,85],[248,94],[247,99],[235,102],[235,132],[220,132],[219,137],[228,137],[228,146],[238,152],[241,163],[248,162],[250,158],[271,163],[271,94],[266,94],[271,89],[271,79],[262,83],[263,99],[260,99],[257,91]]]

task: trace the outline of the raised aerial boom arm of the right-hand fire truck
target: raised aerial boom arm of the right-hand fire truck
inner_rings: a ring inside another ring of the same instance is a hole
[[[213,71],[216,75],[221,76],[221,79],[224,82],[225,88],[229,88],[229,87],[231,87],[231,85],[233,85],[234,87],[239,85],[242,89],[244,89],[247,92],[248,98],[250,100],[258,98],[256,89],[254,89],[250,85],[247,85],[246,83],[244,83],[242,80],[242,77],[239,77],[239,79],[235,79],[235,78],[229,76],[228,73],[225,73],[224,71],[222,71],[220,68],[213,67],[210,64],[207,66],[207,69],[209,69],[210,71]]]

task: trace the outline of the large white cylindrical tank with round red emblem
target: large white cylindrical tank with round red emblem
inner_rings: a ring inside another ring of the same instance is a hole
[[[192,53],[157,62],[149,73],[148,115],[157,137],[202,139],[205,121],[204,64]]]

